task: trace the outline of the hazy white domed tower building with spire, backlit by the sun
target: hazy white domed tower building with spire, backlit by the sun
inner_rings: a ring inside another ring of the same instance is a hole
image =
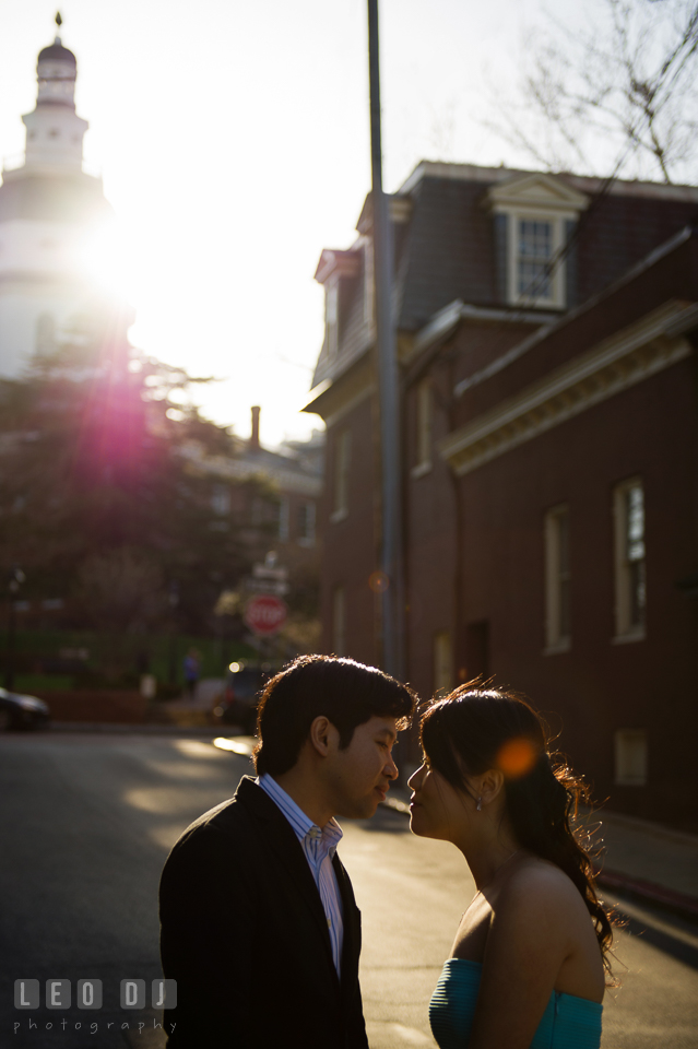
[[[123,342],[133,316],[91,279],[85,250],[113,211],[83,170],[87,121],[75,113],[75,56],[59,36],[39,52],[26,150],[0,186],[0,376],[67,341]]]

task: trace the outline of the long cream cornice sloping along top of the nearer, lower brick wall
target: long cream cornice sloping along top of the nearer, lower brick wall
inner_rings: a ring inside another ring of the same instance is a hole
[[[505,455],[693,352],[698,305],[672,302],[548,373],[439,443],[458,476]]]

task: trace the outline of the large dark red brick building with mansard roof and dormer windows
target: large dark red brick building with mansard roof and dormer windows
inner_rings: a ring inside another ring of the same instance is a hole
[[[528,693],[598,797],[695,828],[698,188],[423,163],[391,212],[406,675]],[[358,233],[306,410],[323,650],[375,662],[370,200]]]

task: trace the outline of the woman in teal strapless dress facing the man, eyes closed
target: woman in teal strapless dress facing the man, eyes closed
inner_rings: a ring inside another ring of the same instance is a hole
[[[477,886],[431,999],[440,1049],[598,1049],[612,929],[569,826],[581,783],[496,689],[435,700],[421,736],[412,830],[452,841]]]

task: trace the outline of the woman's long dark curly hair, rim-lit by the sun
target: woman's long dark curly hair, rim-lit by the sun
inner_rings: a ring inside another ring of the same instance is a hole
[[[583,835],[570,825],[580,802],[589,802],[589,788],[565,764],[554,763],[540,715],[513,693],[470,683],[429,704],[421,740],[431,767],[471,797],[469,776],[489,768],[504,773],[506,811],[521,847],[555,863],[575,883],[594,921],[611,981],[611,919],[596,894]]]

